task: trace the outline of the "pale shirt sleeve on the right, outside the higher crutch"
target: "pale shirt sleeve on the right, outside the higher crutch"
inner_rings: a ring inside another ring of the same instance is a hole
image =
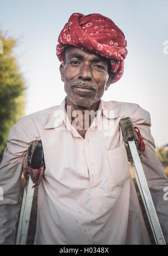
[[[145,151],[141,156],[142,167],[148,187],[150,188],[153,204],[155,205],[165,241],[168,242],[168,208],[167,200],[164,196],[165,188],[168,189],[168,178],[165,174],[164,167],[157,158],[155,141],[153,140],[150,129],[150,113],[138,107],[132,117],[132,122],[134,126],[139,128],[146,145]]]

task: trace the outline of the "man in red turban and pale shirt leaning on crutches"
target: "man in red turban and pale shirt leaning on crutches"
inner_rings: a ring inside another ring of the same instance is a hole
[[[137,104],[101,100],[123,74],[123,32],[99,14],[73,14],[58,38],[67,97],[60,106],[27,115],[11,129],[0,170],[1,243],[15,242],[20,179],[27,147],[41,140],[45,172],[38,192],[35,244],[150,244],[129,173],[119,121],[130,116],[145,143],[143,169],[168,241],[168,186],[150,132],[150,114]]]

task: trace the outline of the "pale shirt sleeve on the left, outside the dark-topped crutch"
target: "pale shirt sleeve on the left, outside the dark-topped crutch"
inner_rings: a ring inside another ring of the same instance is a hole
[[[31,118],[21,118],[11,128],[0,165],[0,244],[14,244],[21,205],[22,164],[27,148],[39,140]]]

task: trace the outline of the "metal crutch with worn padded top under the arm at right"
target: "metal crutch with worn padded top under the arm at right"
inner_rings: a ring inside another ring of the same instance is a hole
[[[122,118],[120,120],[120,126],[122,128],[123,138],[126,145],[127,155],[134,175],[136,177],[139,192],[142,197],[143,205],[147,213],[148,221],[150,222],[153,237],[157,245],[164,245],[165,239],[161,230],[160,223],[157,218],[155,206],[152,201],[150,190],[147,185],[146,177],[144,176],[141,160],[139,158],[137,150],[137,136],[134,131],[134,127],[130,118]]]

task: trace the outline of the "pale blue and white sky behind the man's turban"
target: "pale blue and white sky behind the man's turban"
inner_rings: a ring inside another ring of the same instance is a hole
[[[156,146],[166,145],[168,0],[0,0],[0,28],[17,39],[14,54],[27,86],[25,115],[59,105],[66,96],[55,48],[74,12],[107,16],[124,32],[124,75],[102,100],[133,102],[149,111]]]

